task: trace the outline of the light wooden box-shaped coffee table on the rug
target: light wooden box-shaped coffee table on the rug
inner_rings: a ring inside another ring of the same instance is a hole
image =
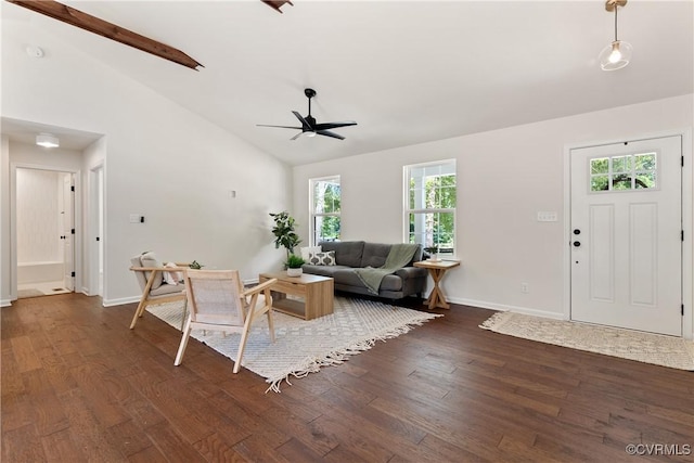
[[[260,283],[278,279],[272,285],[272,308],[279,312],[312,320],[333,313],[332,278],[304,273],[300,276],[287,276],[286,272],[260,273]],[[304,300],[290,299],[286,296],[300,297]]]

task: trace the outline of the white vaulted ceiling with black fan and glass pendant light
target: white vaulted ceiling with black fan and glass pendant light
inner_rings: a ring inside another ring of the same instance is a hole
[[[65,1],[188,53],[200,70],[2,3],[2,34],[82,51],[291,165],[446,139],[694,91],[692,1],[630,0],[624,69],[602,1]],[[12,69],[3,68],[2,73]],[[290,139],[318,95],[346,140]]]

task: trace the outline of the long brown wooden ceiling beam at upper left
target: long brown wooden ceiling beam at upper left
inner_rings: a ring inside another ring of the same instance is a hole
[[[141,36],[132,30],[116,26],[107,21],[100,20],[72,7],[59,3],[53,0],[7,0],[10,3],[24,7],[37,13],[44,14],[54,20],[62,21],[80,29],[100,35],[111,40],[137,48],[156,56],[163,57],[174,63],[180,64],[191,69],[203,66],[182,51],[169,47],[165,43]],[[203,66],[204,67],[204,66]]]

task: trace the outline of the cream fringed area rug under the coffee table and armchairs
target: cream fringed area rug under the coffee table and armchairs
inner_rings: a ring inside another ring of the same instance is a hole
[[[181,304],[149,306],[147,311],[180,330]],[[279,393],[283,382],[291,385],[291,376],[304,377],[321,366],[340,364],[350,356],[371,349],[377,340],[397,337],[442,316],[375,300],[335,297],[334,313],[330,316],[305,321],[275,311],[273,317],[275,343],[271,343],[267,319],[262,317],[253,325],[241,364],[265,377],[270,384],[268,390]],[[192,332],[192,337],[234,361],[240,336]]]

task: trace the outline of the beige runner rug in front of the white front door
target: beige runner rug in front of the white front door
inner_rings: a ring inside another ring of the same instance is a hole
[[[479,327],[540,343],[694,371],[694,342],[680,337],[514,312],[494,313]]]

